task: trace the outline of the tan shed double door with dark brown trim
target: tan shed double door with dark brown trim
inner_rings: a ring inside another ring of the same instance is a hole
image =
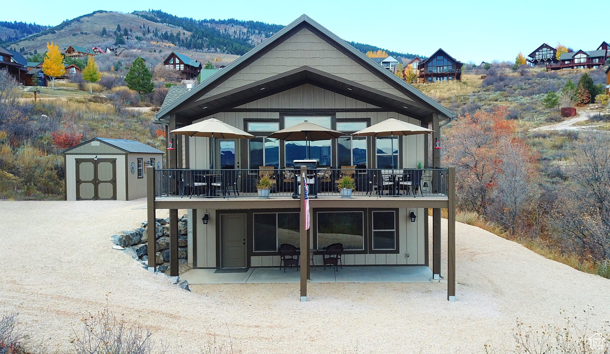
[[[76,160],[76,200],[117,200],[117,159]]]

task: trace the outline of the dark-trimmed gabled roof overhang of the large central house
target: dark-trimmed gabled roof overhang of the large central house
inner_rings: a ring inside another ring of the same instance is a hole
[[[400,91],[402,94],[404,94],[404,96],[408,97],[408,99],[389,95],[382,91],[376,90],[375,88],[362,85],[358,82],[342,79],[341,77],[334,76],[310,66],[301,66],[300,68],[296,68],[276,76],[268,77],[264,80],[243,85],[242,87],[236,88],[234,91],[232,91],[234,94],[216,95],[206,99],[202,98],[204,94],[209,93],[213,88],[224,82],[224,80],[227,80],[239,73],[240,70],[254,62],[254,60],[266,54],[268,51],[283,43],[287,38],[292,37],[292,35],[304,28],[314,32],[314,35],[322,38],[328,44],[350,57],[356,63],[359,63],[359,65],[368,69],[371,74],[379,77],[379,79],[389,84],[393,89]],[[422,117],[424,114],[431,115],[431,113],[440,113],[441,115],[448,117],[454,116],[453,112],[443,107],[422,92],[418,91],[408,83],[404,82],[404,80],[401,80],[395,74],[390,73],[390,71],[388,71],[386,68],[376,64],[373,60],[371,60],[371,58],[362,54],[362,52],[358,51],[345,40],[337,37],[337,35],[333,34],[328,29],[309,18],[307,15],[300,16],[300,18],[296,19],[288,26],[285,26],[283,29],[276,32],[276,34],[226,66],[226,68],[218,71],[216,74],[213,74],[213,76],[211,76],[205,82],[202,82],[200,85],[193,88],[193,90],[188,91],[179,99],[167,105],[167,107],[159,110],[159,112],[154,116],[159,119],[178,112],[188,112],[189,115],[194,115],[195,113],[192,112],[197,112],[196,114],[201,115],[201,107],[197,108],[198,111],[196,110],[198,105],[206,105],[206,107],[207,105],[210,105],[210,109],[208,112],[206,112],[206,115],[209,115],[213,114],[214,112],[221,112],[221,109],[224,107],[234,107],[237,105],[237,102],[244,102],[246,100],[253,101],[256,99],[256,97],[266,97],[270,96],[271,94],[287,90],[290,88],[290,85],[294,87],[299,83],[303,84],[307,82],[314,83],[314,85],[320,85],[322,87],[325,86],[329,90],[333,90],[337,93],[343,94],[344,96],[355,99],[361,99],[362,97],[366,96],[369,101],[376,100],[376,102],[380,102],[384,107],[392,108],[393,112],[402,112],[404,115],[414,116],[414,118],[418,117],[417,114],[419,114],[419,117]],[[267,90],[265,90],[264,94],[261,94],[259,91],[261,85],[267,86]],[[242,101],[235,101],[238,98]],[[212,107],[212,104],[215,104],[215,107]],[[404,108],[403,106],[407,108]]]

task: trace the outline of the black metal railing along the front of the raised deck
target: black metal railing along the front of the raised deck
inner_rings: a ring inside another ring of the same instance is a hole
[[[447,169],[308,169],[310,197],[340,196],[343,176],[353,181],[352,196],[447,196]],[[270,197],[296,197],[301,176],[295,169],[156,169],[155,196],[259,197],[261,177],[268,176]],[[345,193],[345,191],[343,192]]]

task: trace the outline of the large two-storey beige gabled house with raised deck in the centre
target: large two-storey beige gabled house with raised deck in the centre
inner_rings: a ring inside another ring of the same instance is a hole
[[[448,55],[437,56],[435,66],[442,60],[445,73],[451,65],[455,75],[456,61],[445,63]],[[184,208],[193,221],[188,263],[195,271],[267,267],[285,279],[278,270],[278,247],[286,243],[311,250],[318,267],[311,270],[309,257],[301,258],[302,301],[307,297],[307,277],[323,272],[324,248],[336,243],[343,244],[343,268],[379,266],[380,272],[387,267],[386,271],[400,269],[405,274],[422,272],[426,281],[439,279],[440,208],[449,208],[448,272],[443,277],[448,300],[454,300],[455,170],[443,167],[440,159],[440,126],[454,116],[309,16],[301,16],[191,90],[168,94],[154,115],[157,124],[167,127],[169,145],[167,167],[149,168],[147,175],[148,225],[154,224],[157,209],[170,210],[170,274],[178,274],[178,209]],[[431,127],[432,134],[351,135],[390,117]],[[254,138],[169,133],[210,118]],[[268,138],[304,121],[344,135],[309,141],[307,149],[306,141]],[[431,149],[430,156],[431,141],[439,148]],[[300,160],[305,159],[310,166],[308,230],[299,186]],[[426,168],[417,169],[420,163]],[[257,196],[261,175],[270,175],[273,181],[268,199]],[[355,182],[351,199],[337,191],[342,175]],[[148,235],[149,245],[154,245],[154,233]],[[149,270],[154,271],[155,247],[149,246],[148,252]],[[390,268],[396,266],[400,267]]]

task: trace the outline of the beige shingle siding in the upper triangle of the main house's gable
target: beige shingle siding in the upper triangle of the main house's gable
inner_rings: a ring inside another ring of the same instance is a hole
[[[372,62],[371,64],[376,65]],[[301,29],[292,37],[279,43],[278,46],[254,60],[253,63],[229,77],[200,99],[207,99],[303,66],[310,66],[343,79],[413,101],[309,29]]]

